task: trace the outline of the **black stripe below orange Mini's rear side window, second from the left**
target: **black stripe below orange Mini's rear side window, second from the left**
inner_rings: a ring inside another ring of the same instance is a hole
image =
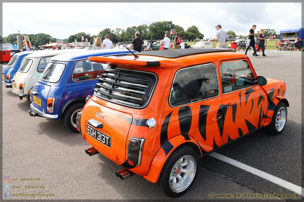
[[[188,134],[192,122],[192,112],[190,106],[184,106],[178,109],[178,120],[181,134]]]

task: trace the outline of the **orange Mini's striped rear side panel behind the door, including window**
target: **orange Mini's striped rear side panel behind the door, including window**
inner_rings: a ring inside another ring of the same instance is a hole
[[[179,69],[163,111],[161,142],[178,134],[195,138],[202,152],[223,145],[218,71],[213,63]],[[162,139],[163,137],[163,139]]]

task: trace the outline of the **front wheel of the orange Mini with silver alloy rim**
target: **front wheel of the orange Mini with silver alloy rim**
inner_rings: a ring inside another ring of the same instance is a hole
[[[287,107],[284,103],[279,102],[275,107],[275,111],[272,115],[271,122],[267,126],[263,127],[266,133],[271,135],[278,135],[282,133],[286,126],[287,121]]]

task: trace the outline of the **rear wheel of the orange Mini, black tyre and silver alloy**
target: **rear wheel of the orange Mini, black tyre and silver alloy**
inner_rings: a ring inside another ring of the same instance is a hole
[[[198,174],[199,158],[188,146],[174,150],[168,157],[155,185],[163,194],[174,198],[185,194]]]

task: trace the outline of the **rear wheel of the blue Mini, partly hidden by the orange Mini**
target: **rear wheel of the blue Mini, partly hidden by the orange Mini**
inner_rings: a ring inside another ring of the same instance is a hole
[[[85,104],[83,103],[75,103],[68,106],[68,108],[64,112],[64,126],[75,133],[79,133],[79,131],[76,129],[76,116],[77,113],[80,112],[84,106]]]

